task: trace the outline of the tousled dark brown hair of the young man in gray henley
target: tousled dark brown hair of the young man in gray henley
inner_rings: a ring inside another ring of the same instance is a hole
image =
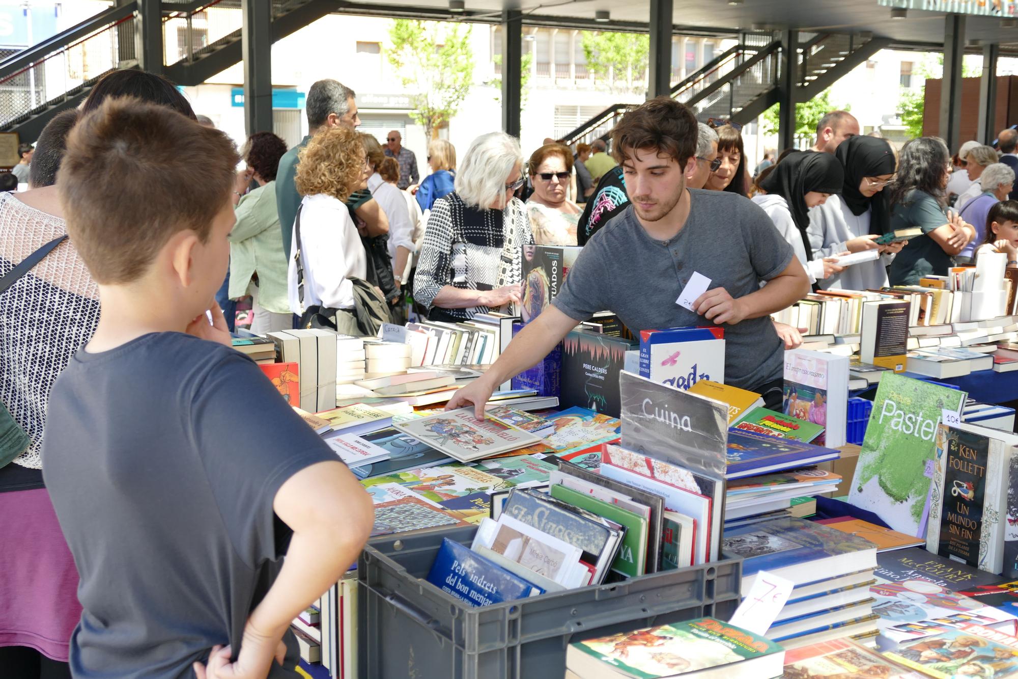
[[[612,130],[612,155],[621,165],[633,149],[657,149],[680,167],[696,154],[696,116],[671,97],[656,97],[630,109]]]

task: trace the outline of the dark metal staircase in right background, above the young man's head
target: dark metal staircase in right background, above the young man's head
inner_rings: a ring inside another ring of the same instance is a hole
[[[801,36],[795,101],[812,99],[889,44],[884,38],[841,34]],[[674,85],[671,95],[691,107],[698,120],[715,117],[745,124],[778,103],[784,49],[778,40],[766,45],[736,45]],[[628,108],[626,104],[609,106],[563,141],[589,144],[607,140]]]

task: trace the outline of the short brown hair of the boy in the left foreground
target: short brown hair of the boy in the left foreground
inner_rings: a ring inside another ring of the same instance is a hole
[[[57,188],[96,282],[136,280],[177,231],[206,241],[239,160],[225,134],[165,106],[114,98],[84,115],[67,138]]]

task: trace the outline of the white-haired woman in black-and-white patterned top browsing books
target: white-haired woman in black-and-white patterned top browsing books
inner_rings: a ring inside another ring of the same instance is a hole
[[[523,203],[519,142],[482,135],[467,149],[456,191],[435,201],[420,248],[413,298],[431,320],[464,321],[520,297],[520,246],[533,243]]]

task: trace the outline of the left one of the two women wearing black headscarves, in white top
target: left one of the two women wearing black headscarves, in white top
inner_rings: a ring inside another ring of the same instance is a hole
[[[812,282],[842,270],[831,257],[813,259],[806,228],[809,209],[841,191],[844,178],[841,163],[831,154],[793,151],[759,184],[767,193],[752,198],[795,250]]]

